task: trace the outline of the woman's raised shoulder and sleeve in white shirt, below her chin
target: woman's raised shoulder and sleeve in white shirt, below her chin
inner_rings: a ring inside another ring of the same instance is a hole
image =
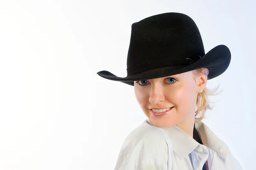
[[[135,128],[123,142],[115,170],[124,166],[141,169],[151,166],[162,170],[168,161],[166,137],[165,131],[158,127],[142,124]]]

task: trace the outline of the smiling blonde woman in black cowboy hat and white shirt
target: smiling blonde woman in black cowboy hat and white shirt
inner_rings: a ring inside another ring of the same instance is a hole
[[[97,73],[134,86],[148,117],[125,139],[115,170],[241,170],[227,145],[201,121],[210,108],[207,80],[224,73],[230,59],[225,45],[205,54],[198,27],[185,14],[133,23],[127,77]]]

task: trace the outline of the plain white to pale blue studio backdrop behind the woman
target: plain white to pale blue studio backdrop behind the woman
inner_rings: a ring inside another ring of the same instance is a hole
[[[113,170],[122,142],[145,119],[126,77],[131,24],[180,12],[206,53],[230,48],[221,94],[204,122],[244,169],[256,169],[253,0],[0,0],[0,170]]]

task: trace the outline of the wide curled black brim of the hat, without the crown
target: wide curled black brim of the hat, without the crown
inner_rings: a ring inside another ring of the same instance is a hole
[[[117,77],[109,71],[99,71],[97,74],[105,79],[123,82],[128,85],[134,86],[134,81],[156,79],[160,77],[172,76],[175,74],[181,74],[187,71],[192,71],[198,68],[208,68],[209,75],[208,80],[218,77],[224,71],[227,70],[231,60],[231,53],[226,45],[217,45],[212,48],[207,54],[201,59],[193,62],[190,65],[184,65],[183,68],[180,66],[167,66],[161,68],[155,68],[148,71],[143,71],[138,74],[133,74],[127,77]]]

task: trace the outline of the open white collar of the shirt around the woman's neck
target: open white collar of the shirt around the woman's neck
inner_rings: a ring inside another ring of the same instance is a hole
[[[150,119],[145,120],[145,123],[154,126]],[[227,154],[230,153],[229,148],[212,132],[212,130],[209,129],[207,125],[204,124],[204,122],[195,122],[195,128],[201,136],[202,142],[205,146],[221,153],[224,160],[227,159]],[[161,127],[161,129],[166,131],[172,141],[173,151],[180,159],[189,155],[189,153],[191,153],[199,144],[189,134],[181,130],[176,125],[171,127]]]

